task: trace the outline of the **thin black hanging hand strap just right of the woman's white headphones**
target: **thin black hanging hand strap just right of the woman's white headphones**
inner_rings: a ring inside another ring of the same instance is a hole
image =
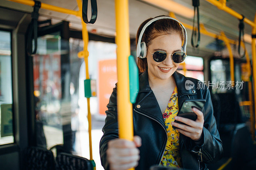
[[[194,18],[193,18],[193,29],[192,29],[192,37],[191,37],[191,45],[194,48],[197,48],[200,44],[200,25],[199,25],[199,0],[192,0],[192,4],[194,6]],[[196,10],[197,10],[197,43],[195,45],[194,43],[194,36],[196,36],[195,31],[195,16],[196,16]]]

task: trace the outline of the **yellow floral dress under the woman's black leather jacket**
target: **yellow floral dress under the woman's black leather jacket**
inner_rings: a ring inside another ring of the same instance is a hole
[[[160,163],[162,166],[176,168],[181,168],[182,166],[179,153],[180,133],[176,129],[173,129],[171,125],[171,122],[174,121],[174,117],[177,115],[178,111],[178,92],[177,86],[175,86],[168,102],[168,106],[163,113],[168,140],[165,147],[164,156]]]

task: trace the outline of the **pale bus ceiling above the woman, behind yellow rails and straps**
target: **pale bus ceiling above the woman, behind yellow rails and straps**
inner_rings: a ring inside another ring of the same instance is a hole
[[[7,0],[1,0],[1,6],[11,9],[16,9],[18,11],[28,12],[31,13],[33,11],[33,8],[25,5],[25,4],[18,4],[14,2],[10,2]],[[12,0],[15,1],[15,0]],[[76,4],[76,1],[64,1],[65,3],[58,3],[57,1],[43,1],[45,4],[54,5],[57,7],[61,7],[64,9],[67,9],[67,13],[60,13],[56,11],[50,11],[43,9],[44,7],[41,7],[42,9],[39,10],[39,20],[45,20],[45,19],[52,19],[52,24],[58,23],[61,20],[67,20],[70,23],[70,28],[81,30],[81,21],[79,18],[77,18],[76,12],[78,10],[78,6]],[[170,1],[172,2],[172,1]],[[115,19],[113,16],[114,13],[114,4],[108,3],[108,1],[98,0],[97,1],[98,6],[101,10],[98,11],[98,19],[94,25],[88,25],[87,29],[89,32],[96,32],[96,34],[103,34],[108,36],[115,36],[116,29],[115,29]],[[248,8],[242,8],[240,7],[243,2],[227,2],[227,6],[232,6],[232,9],[235,11],[239,11],[245,16],[244,22],[244,38],[245,38],[245,46],[248,50],[248,54],[251,54],[251,48],[250,48],[250,42],[251,42],[251,26],[248,26],[246,21],[253,20],[254,12],[253,5],[254,4],[243,4],[248,5]],[[144,6],[145,8],[141,8],[141,10],[136,10],[137,6]],[[166,5],[168,6],[168,5]],[[169,5],[170,6],[170,5]],[[193,6],[190,1],[183,1],[181,2],[181,6],[184,8],[188,8],[188,10],[193,11]],[[249,8],[250,6],[250,8]],[[214,5],[209,5],[206,1],[200,1],[200,22],[201,24],[204,24],[204,27],[207,29],[207,31],[212,33],[218,33],[220,34],[220,30],[223,30],[225,32],[225,35],[234,40],[238,40],[239,35],[239,29],[238,29],[238,20],[233,17],[232,15],[219,10]],[[72,10],[71,10],[72,9]],[[246,10],[248,9],[248,10]],[[90,12],[91,9],[88,8],[88,12]],[[135,38],[136,30],[139,26],[139,23],[141,23],[146,16],[151,16],[151,12],[154,11],[156,14],[169,14],[172,9],[167,9],[167,7],[161,6],[161,3],[156,3],[154,0],[130,0],[129,1],[129,18],[130,18],[130,36],[131,38]],[[175,13],[176,17],[183,23],[187,23],[189,25],[192,25],[193,15],[185,14],[181,15],[176,11],[172,11]],[[216,16],[213,16],[212,14],[217,14]],[[192,13],[193,14],[193,13]],[[137,17],[141,16],[141,17]],[[143,17],[145,16],[145,17]],[[90,15],[88,16],[90,17]],[[113,18],[113,19],[110,19]],[[108,21],[108,22],[106,22]],[[251,22],[249,22],[251,23]],[[96,30],[96,31],[95,31]],[[192,31],[188,31],[188,37],[191,37]],[[214,53],[214,50],[210,48],[210,44],[212,44],[215,41],[214,38],[209,38],[208,36],[202,35],[201,36],[201,44],[200,49],[193,50],[193,48],[188,46],[188,53],[190,55],[196,55],[201,57],[210,57]],[[236,49],[237,51],[237,49]],[[243,53],[243,50],[241,50]],[[223,55],[228,56],[228,51],[224,50]],[[234,54],[234,56],[238,56],[238,54]]]

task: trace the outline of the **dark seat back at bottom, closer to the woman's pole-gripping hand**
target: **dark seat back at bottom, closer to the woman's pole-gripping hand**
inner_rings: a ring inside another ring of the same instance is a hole
[[[92,165],[90,160],[74,156],[68,153],[60,153],[56,157],[56,170],[76,169],[76,170],[91,170]]]

